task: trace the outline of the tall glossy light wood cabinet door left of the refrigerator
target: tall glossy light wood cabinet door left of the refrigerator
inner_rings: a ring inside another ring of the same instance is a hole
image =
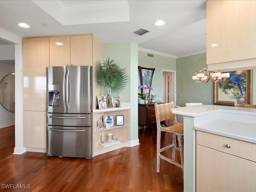
[[[46,111],[49,38],[23,39],[23,110]]]

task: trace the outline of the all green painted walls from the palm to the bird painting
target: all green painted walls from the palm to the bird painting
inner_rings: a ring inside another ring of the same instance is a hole
[[[152,53],[150,53],[152,54]],[[162,72],[164,70],[176,71],[176,105],[185,106],[187,102],[202,102],[213,104],[213,82],[197,83],[192,80],[192,75],[200,68],[207,68],[206,53],[183,58],[172,58],[154,54],[148,57],[148,52],[139,51],[138,45],[133,43],[103,44],[103,59],[110,57],[120,66],[126,68],[129,80],[121,95],[121,102],[130,102],[130,140],[138,139],[138,85],[140,77],[138,66],[155,68],[152,78],[153,91],[162,101]],[[252,103],[256,104],[256,70],[252,75]],[[102,91],[103,93],[103,91]],[[179,97],[182,95],[182,97]],[[115,95],[113,95],[115,96]]]

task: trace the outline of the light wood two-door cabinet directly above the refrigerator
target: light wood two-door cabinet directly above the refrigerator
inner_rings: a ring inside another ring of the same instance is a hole
[[[58,45],[56,43],[62,43]],[[92,66],[92,35],[50,37],[50,66]]]

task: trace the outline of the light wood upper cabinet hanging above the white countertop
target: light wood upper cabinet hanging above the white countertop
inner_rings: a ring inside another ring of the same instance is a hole
[[[256,68],[256,1],[207,1],[208,70]]]

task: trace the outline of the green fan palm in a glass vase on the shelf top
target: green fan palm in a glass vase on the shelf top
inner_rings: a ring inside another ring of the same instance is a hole
[[[121,68],[114,60],[107,58],[102,63],[99,61],[96,64],[96,81],[106,90],[106,102],[110,107],[111,98],[110,93],[120,93],[124,90],[128,74],[126,68]]]

